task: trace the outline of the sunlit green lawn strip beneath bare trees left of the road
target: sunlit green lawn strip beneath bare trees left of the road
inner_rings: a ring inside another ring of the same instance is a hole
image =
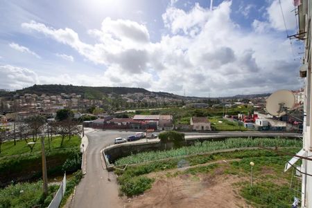
[[[75,136],[71,137],[71,140],[69,140],[68,138],[64,138],[63,146],[60,147],[61,140],[62,139],[60,136],[56,136],[56,137],[52,138],[51,143],[50,143],[51,150],[71,148],[71,147],[79,146],[80,142],[81,142],[80,137],[78,135],[75,135]],[[29,139],[28,142],[33,142],[33,140]],[[35,144],[35,146],[34,146],[33,153],[35,153],[37,151],[41,151],[41,140],[38,139],[37,142],[38,143]],[[49,150],[48,138],[45,138],[44,144],[45,144],[44,147],[45,147],[46,151],[48,151]],[[13,141],[4,142],[1,146],[0,158],[4,157],[4,156],[21,155],[23,153],[30,153],[30,152],[31,152],[31,149],[29,148],[29,146],[26,144],[26,142],[24,140],[18,140],[16,142],[16,145],[14,145]]]

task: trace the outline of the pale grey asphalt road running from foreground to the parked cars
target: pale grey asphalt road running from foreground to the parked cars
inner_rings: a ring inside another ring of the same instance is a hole
[[[80,184],[76,187],[73,198],[73,207],[123,207],[119,198],[116,176],[113,172],[103,169],[101,149],[114,143],[114,138],[131,135],[130,132],[96,130],[87,133],[89,146],[86,152],[87,173]],[[110,181],[107,180],[110,178]]]

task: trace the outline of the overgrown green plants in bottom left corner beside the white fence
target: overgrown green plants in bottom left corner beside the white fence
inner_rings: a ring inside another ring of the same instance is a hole
[[[0,208],[8,207],[48,207],[57,185],[49,186],[48,196],[42,193],[42,181],[17,183],[0,189]]]

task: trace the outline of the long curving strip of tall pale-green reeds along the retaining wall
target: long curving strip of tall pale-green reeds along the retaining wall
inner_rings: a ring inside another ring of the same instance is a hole
[[[137,164],[140,162],[148,162],[164,158],[173,158],[182,155],[206,153],[209,151],[216,151],[220,149],[256,146],[300,147],[302,146],[302,142],[300,140],[288,140],[284,138],[229,138],[224,141],[205,141],[202,143],[196,142],[196,144],[193,146],[183,146],[180,149],[171,149],[168,151],[150,151],[137,153],[135,155],[120,158],[119,160],[116,160],[115,164]]]

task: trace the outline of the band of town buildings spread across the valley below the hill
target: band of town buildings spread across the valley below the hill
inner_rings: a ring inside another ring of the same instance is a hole
[[[214,103],[201,103],[193,100],[177,100],[168,97],[158,97],[153,93],[128,93],[120,95],[122,100],[128,104],[135,104],[138,100],[149,103],[166,102],[168,106],[181,108],[223,108],[223,119],[229,122],[236,122],[246,129],[261,131],[299,131],[302,124],[302,103],[304,95],[302,89],[293,91],[295,95],[295,110],[293,114],[285,117],[273,118],[266,112],[266,98],[254,97],[250,99],[215,99]],[[114,102],[114,97],[109,94],[110,100]],[[70,109],[74,113],[74,118],[83,120],[83,115],[94,117],[93,120],[84,121],[84,125],[97,129],[153,129],[153,130],[184,130],[184,131],[211,131],[209,117],[191,117],[188,124],[175,122],[173,115],[132,115],[130,117],[118,117],[119,114],[136,112],[136,108],[113,111],[112,105],[107,100],[90,100],[84,99],[82,95],[76,93],[60,95],[36,95],[26,93],[24,95],[14,95],[12,100],[6,97],[0,97],[1,100],[1,123],[12,129],[12,122],[22,122],[32,115],[42,115],[49,120],[53,120],[57,111],[60,109]],[[182,104],[185,104],[184,106]],[[110,107],[105,108],[105,104]],[[227,113],[228,108],[241,105],[248,105],[253,109],[253,113],[238,113],[230,115]],[[131,105],[129,105],[131,106]],[[148,106],[144,106],[148,107]],[[153,107],[153,106],[152,106]],[[170,107],[167,107],[170,108]],[[93,109],[93,111],[89,111]],[[144,109],[144,108],[143,108]],[[296,113],[297,112],[297,113]],[[117,117],[116,117],[117,116]],[[199,122],[201,121],[201,122]],[[218,121],[222,122],[222,121]],[[201,123],[198,126],[197,123]],[[213,128],[214,129],[214,128]],[[302,128],[301,128],[302,129]]]

